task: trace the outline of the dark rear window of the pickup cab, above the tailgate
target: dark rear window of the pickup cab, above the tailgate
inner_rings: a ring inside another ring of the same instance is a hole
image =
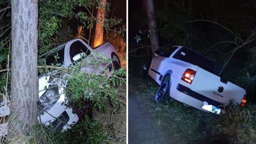
[[[213,61],[192,49],[183,47],[173,56],[173,58],[197,65],[208,72],[215,72]]]

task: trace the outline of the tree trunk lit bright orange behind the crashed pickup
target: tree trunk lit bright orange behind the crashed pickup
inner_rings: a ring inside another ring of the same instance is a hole
[[[95,26],[94,43],[93,47],[99,46],[103,43],[103,23],[105,19],[105,6],[106,0],[100,0],[97,12],[97,22]]]

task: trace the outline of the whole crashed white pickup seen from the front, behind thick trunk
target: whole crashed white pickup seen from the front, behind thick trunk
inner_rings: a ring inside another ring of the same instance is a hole
[[[97,74],[104,71],[107,72],[107,77],[109,77],[113,75],[113,70],[120,68],[120,60],[116,49],[108,42],[92,49],[83,40],[74,39],[53,48],[39,58],[45,58],[47,65],[54,63],[58,64],[58,66],[67,67],[79,63],[82,57],[86,57],[86,60],[91,60],[90,57],[93,57],[96,53],[101,53],[105,58],[111,59],[111,61],[109,63],[100,63],[96,69],[93,66],[82,66],[81,70]],[[55,58],[56,54],[59,57],[57,61]],[[63,83],[63,81],[65,82]],[[71,107],[65,106],[67,95],[64,92],[64,88],[67,86],[67,82],[67,80],[59,78],[58,72],[38,76],[38,109],[40,114],[38,122],[47,126],[52,125],[50,127],[52,130],[67,130],[70,128],[70,125],[74,125],[79,120],[82,120],[84,115],[88,115],[89,118],[93,116],[89,101],[79,101],[83,104],[82,108],[76,107],[76,105],[71,105]],[[9,113],[8,104],[6,105],[3,101],[0,102],[0,118],[7,118]],[[8,123],[6,121],[5,123],[3,121],[0,122],[0,136],[7,135]]]

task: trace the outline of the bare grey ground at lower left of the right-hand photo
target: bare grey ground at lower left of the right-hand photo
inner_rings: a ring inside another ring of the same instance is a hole
[[[145,82],[145,81],[144,81]],[[170,144],[173,132],[171,127],[160,124],[154,118],[151,101],[141,98],[140,82],[129,77],[128,85],[128,143],[129,144]]]

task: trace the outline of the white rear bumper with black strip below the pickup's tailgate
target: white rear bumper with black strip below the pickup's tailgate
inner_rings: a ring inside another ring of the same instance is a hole
[[[175,81],[172,81],[170,88],[170,96],[176,99],[177,101],[188,104],[204,112],[208,112],[207,110],[202,109],[204,101],[206,101],[209,105],[213,105],[215,107],[222,105],[218,101],[214,101],[210,98],[207,98],[204,95],[194,92],[188,87],[183,86]]]

